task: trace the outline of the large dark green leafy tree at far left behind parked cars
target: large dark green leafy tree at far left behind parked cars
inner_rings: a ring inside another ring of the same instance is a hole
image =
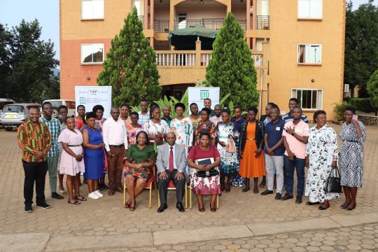
[[[59,64],[54,58],[54,43],[42,41],[41,32],[38,20],[22,20],[11,31],[0,24],[1,97],[15,102],[42,102],[43,95],[59,92],[49,80],[52,69]]]

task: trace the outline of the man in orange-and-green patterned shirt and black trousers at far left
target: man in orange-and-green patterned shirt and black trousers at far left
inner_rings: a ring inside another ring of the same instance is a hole
[[[50,208],[45,203],[45,176],[48,170],[47,153],[51,148],[51,135],[44,123],[38,122],[37,107],[29,109],[29,120],[18,127],[18,144],[22,148],[22,165],[25,172],[24,197],[25,212],[33,211],[33,189],[36,183],[36,204],[44,209]]]

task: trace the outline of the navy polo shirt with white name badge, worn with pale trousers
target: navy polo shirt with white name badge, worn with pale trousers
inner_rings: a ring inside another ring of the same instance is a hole
[[[267,124],[267,126],[265,126],[265,134],[267,134],[267,144],[269,148],[272,148],[279,142],[279,140],[281,140],[283,127],[285,127],[285,122],[281,118],[279,118],[276,123],[271,121]],[[274,156],[283,156],[283,153],[285,153],[285,146],[282,144],[278,148],[274,149],[273,153]]]

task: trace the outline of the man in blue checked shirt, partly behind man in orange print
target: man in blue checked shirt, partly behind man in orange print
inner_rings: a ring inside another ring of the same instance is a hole
[[[51,135],[51,148],[48,151],[48,181],[50,181],[51,197],[62,200],[64,197],[57,194],[57,160],[59,159],[57,139],[60,134],[60,122],[51,116],[52,105],[50,102],[43,102],[42,111],[43,117],[39,118],[39,121],[48,127]]]

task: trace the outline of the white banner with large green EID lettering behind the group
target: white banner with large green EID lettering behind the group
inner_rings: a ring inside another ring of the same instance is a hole
[[[198,106],[198,113],[204,108],[204,99],[211,99],[211,109],[219,104],[219,94],[221,87],[188,87],[189,105],[193,102]],[[190,108],[189,108],[190,109]],[[189,112],[189,114],[191,114]]]

